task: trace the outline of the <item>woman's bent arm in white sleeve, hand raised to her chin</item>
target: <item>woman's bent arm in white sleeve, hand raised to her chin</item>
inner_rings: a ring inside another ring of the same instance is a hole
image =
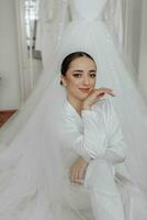
[[[105,154],[105,124],[103,123],[103,114],[93,111],[91,107],[100,101],[105,94],[115,96],[110,88],[94,89],[83,101],[81,110],[82,128],[80,132],[79,121],[74,114],[65,116],[66,132],[63,138],[65,145],[74,148],[81,157],[86,160],[102,158]]]

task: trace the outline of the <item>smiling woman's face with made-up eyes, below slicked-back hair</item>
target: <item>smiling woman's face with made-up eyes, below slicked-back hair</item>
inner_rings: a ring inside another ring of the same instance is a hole
[[[69,101],[83,101],[94,89],[97,77],[95,63],[88,57],[79,57],[70,63],[66,76],[61,76]]]

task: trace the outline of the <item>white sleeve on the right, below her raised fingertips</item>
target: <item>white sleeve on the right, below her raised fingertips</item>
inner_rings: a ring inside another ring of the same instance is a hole
[[[112,164],[123,163],[125,161],[126,144],[116,112],[109,102],[108,105],[108,146],[104,158]]]

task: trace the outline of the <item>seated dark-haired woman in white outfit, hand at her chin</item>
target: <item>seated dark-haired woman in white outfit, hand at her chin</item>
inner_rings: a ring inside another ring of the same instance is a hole
[[[84,52],[69,54],[61,64],[67,97],[59,130],[66,185],[63,198],[69,195],[70,205],[86,219],[146,219],[147,197],[125,169],[126,143],[111,99],[103,98],[115,95],[109,88],[94,88],[97,73],[94,59]],[[71,186],[69,176],[81,187]],[[71,210],[68,215],[72,219]]]

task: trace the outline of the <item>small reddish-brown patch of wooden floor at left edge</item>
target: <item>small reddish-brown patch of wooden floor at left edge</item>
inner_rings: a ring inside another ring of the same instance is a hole
[[[8,119],[16,112],[16,109],[0,110],[0,128],[8,121]]]

